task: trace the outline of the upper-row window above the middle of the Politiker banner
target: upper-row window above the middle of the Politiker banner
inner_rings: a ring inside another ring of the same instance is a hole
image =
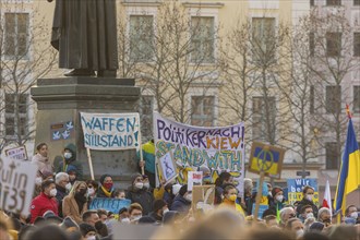
[[[191,17],[191,61],[212,63],[215,61],[215,26],[213,16]]]

